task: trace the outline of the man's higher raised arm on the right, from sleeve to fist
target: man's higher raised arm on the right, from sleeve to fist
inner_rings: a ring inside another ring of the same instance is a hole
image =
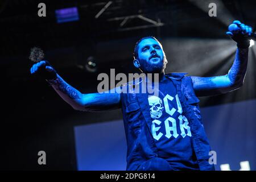
[[[240,32],[232,34],[232,39],[237,42],[236,58],[228,74],[215,77],[196,77],[191,76],[193,81],[193,88],[198,97],[213,96],[216,94],[222,94],[230,92],[240,88],[243,85],[243,80],[246,74],[247,62],[248,62],[248,47],[250,40],[247,38],[251,34],[251,27],[241,24],[239,21],[234,21],[239,27]]]

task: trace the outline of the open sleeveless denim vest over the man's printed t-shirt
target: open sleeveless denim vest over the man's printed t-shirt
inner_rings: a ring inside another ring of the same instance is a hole
[[[176,86],[183,114],[191,125],[192,145],[200,170],[214,170],[214,165],[208,162],[210,146],[201,122],[199,99],[193,90],[191,78],[186,74],[169,73],[165,76]],[[133,90],[142,83],[143,81],[127,86]],[[126,169],[137,170],[143,162],[158,157],[158,148],[151,134],[148,94],[121,93],[121,101],[127,142]]]

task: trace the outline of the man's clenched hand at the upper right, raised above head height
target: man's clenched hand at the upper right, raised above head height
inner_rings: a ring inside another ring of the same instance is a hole
[[[238,48],[247,48],[250,46],[249,36],[253,33],[253,29],[241,23],[238,20],[234,20],[229,26],[229,31],[226,35],[229,35],[234,41],[237,42]]]

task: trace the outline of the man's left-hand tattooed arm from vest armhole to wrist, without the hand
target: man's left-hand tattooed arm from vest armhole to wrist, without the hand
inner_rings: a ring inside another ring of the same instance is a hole
[[[88,93],[82,94],[79,90],[67,84],[59,75],[55,80],[48,80],[53,89],[64,101],[75,110],[101,111],[118,109],[120,105],[120,94],[118,93]]]

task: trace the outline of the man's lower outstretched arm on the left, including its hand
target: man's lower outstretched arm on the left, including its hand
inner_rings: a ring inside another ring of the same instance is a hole
[[[43,75],[57,94],[75,110],[102,111],[121,107],[120,92],[82,94],[57,75],[48,61],[40,61],[34,64],[31,68],[31,74],[35,73]],[[115,91],[117,89],[115,88]]]

